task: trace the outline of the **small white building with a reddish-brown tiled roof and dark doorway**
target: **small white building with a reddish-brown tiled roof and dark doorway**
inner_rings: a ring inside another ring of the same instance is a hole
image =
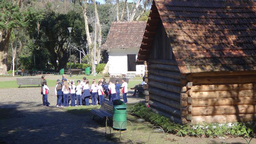
[[[136,65],[146,22],[113,22],[102,48],[108,50],[110,75],[144,74],[144,64]]]

